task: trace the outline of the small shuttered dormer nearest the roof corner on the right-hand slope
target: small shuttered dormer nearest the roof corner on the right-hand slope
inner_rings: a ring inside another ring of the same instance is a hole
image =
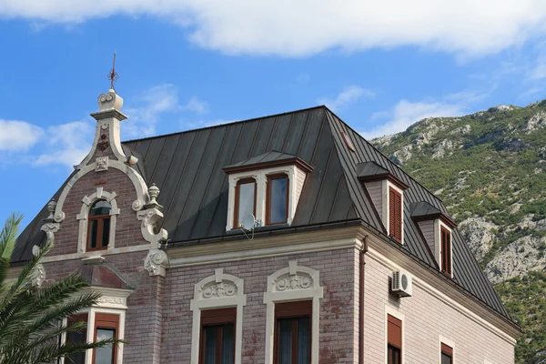
[[[408,186],[376,162],[360,163],[358,177],[385,227],[385,232],[404,244],[404,190]]]

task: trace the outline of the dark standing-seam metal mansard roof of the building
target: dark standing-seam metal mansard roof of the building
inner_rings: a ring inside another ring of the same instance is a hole
[[[343,133],[354,145],[354,151],[347,147]],[[359,181],[364,169],[366,173],[384,170],[408,187],[404,192],[403,249],[423,264],[436,267],[419,227],[411,218],[411,206],[424,201],[449,216],[446,207],[325,106],[132,140],[124,145],[140,156],[136,167],[147,183],[156,183],[161,189],[158,203],[164,207],[162,227],[174,243],[228,238],[228,186],[223,167],[297,157],[313,169],[308,172],[290,228],[331,226],[335,222],[361,219],[385,233],[368,192]],[[29,258],[32,246],[42,242],[44,234],[39,229],[41,219],[46,216],[44,207],[25,228],[18,239],[14,260]],[[275,233],[282,233],[282,229]],[[474,298],[510,319],[457,229],[453,234],[453,260],[453,280]]]

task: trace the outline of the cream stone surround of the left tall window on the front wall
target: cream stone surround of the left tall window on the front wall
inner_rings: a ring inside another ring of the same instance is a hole
[[[191,364],[199,362],[201,310],[210,308],[237,308],[235,328],[235,364],[241,364],[243,343],[243,307],[247,306],[243,279],[215,269],[215,274],[200,280],[194,288],[194,298],[189,307],[193,311],[191,330]]]

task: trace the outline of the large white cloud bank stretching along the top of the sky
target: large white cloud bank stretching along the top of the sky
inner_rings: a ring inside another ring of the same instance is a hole
[[[331,48],[418,45],[485,55],[544,34],[543,0],[4,0],[0,17],[78,23],[155,15],[227,54],[309,56]]]

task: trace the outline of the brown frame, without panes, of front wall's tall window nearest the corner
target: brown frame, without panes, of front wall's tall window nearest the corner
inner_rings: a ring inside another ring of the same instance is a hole
[[[309,319],[309,359],[311,358],[311,343],[313,342],[313,330],[311,323],[313,318],[313,300],[306,299],[295,302],[279,302],[275,304],[275,328],[273,341],[273,363],[278,364],[279,319]],[[298,326],[292,323],[292,364],[298,359]]]

